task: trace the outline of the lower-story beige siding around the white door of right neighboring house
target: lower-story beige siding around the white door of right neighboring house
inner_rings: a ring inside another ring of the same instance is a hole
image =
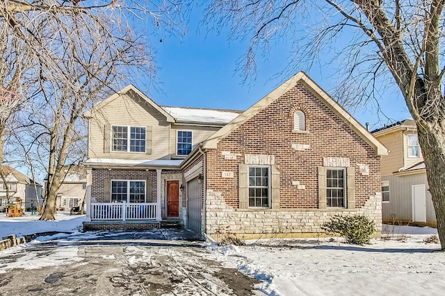
[[[382,219],[397,222],[412,220],[412,185],[426,184],[426,222],[435,222],[435,210],[432,205],[426,173],[406,176],[386,176],[382,181],[389,181],[389,202],[382,203]]]

